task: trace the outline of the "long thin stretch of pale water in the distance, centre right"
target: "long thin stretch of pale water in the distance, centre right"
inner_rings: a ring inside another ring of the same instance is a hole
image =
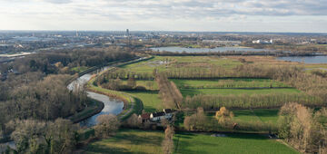
[[[267,49],[254,49],[248,47],[216,47],[216,48],[185,48],[185,47],[178,47],[178,46],[169,46],[169,47],[157,47],[157,48],[150,48],[154,52],[177,52],[177,53],[224,53],[228,51],[235,51],[235,52],[268,52],[272,50]]]

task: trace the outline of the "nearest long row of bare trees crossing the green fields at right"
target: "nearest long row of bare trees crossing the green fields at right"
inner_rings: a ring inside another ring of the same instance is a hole
[[[321,98],[313,97],[305,93],[282,93],[275,92],[269,94],[230,94],[230,95],[205,95],[198,94],[186,96],[182,107],[196,109],[203,107],[205,110],[217,110],[221,107],[233,109],[251,109],[251,108],[276,108],[284,103],[297,101],[304,105],[319,107],[324,105]]]

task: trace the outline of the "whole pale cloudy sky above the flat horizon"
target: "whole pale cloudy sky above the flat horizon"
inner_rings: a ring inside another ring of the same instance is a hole
[[[327,33],[327,0],[0,0],[0,30]]]

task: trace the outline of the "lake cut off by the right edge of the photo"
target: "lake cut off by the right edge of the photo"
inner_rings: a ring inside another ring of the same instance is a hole
[[[299,63],[327,63],[327,56],[292,56],[292,57],[277,57],[277,60],[291,61]]]

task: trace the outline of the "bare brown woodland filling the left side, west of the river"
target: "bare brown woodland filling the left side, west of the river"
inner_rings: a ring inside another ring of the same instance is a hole
[[[71,69],[134,57],[123,48],[90,48],[35,53],[1,65],[7,77],[0,82],[0,140],[11,135],[18,153],[70,153],[78,128],[62,119],[83,111],[89,101],[83,88],[67,89]]]

